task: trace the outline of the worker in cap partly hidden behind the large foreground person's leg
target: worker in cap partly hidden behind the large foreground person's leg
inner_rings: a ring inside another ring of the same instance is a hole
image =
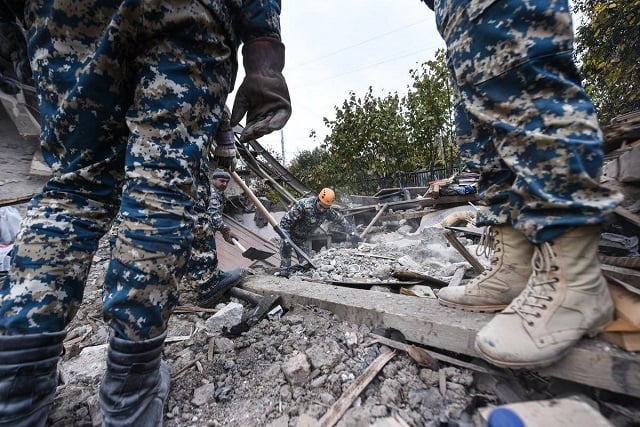
[[[229,272],[218,268],[215,233],[220,232],[223,239],[231,245],[234,244],[233,239],[237,238],[222,219],[226,203],[224,191],[230,179],[228,172],[218,168],[211,175],[213,188],[209,187],[208,179],[203,180],[205,185],[199,185],[198,188],[200,192],[202,187],[204,194],[198,194],[198,219],[193,232],[193,248],[183,280],[189,281],[198,290],[197,303],[200,307],[215,307],[222,295],[239,284],[246,274],[243,268]]]

